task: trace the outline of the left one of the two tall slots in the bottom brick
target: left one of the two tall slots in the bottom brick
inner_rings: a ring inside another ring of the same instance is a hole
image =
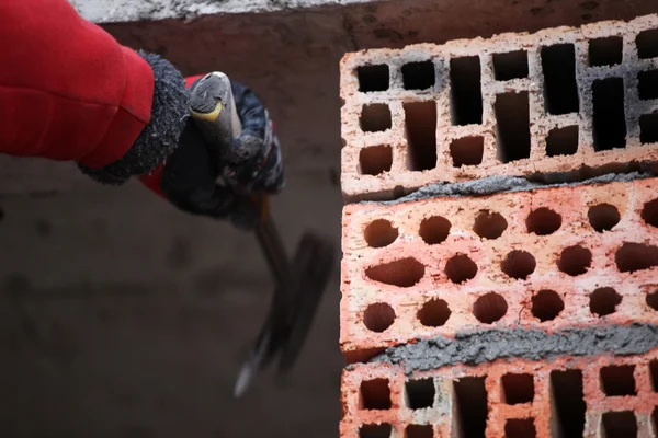
[[[485,438],[487,428],[487,389],[484,377],[464,377],[453,381],[457,407],[454,436]]]

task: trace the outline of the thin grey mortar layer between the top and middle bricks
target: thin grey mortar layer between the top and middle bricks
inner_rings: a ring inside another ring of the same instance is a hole
[[[396,205],[402,203],[411,203],[416,200],[432,199],[438,197],[463,197],[463,196],[487,196],[497,193],[512,193],[512,192],[526,192],[533,189],[552,188],[552,187],[565,187],[576,185],[588,185],[588,184],[606,184],[613,182],[629,182],[635,180],[643,180],[655,176],[650,172],[632,172],[632,173],[611,173],[602,176],[592,177],[579,182],[568,183],[546,183],[531,181],[524,177],[518,176],[489,176],[481,180],[473,180],[464,183],[450,183],[450,184],[431,184],[417,189],[416,192],[402,196],[395,200],[385,201],[362,201],[362,205],[377,204],[377,205]],[[556,180],[559,177],[556,175]],[[549,181],[546,178],[544,181]]]

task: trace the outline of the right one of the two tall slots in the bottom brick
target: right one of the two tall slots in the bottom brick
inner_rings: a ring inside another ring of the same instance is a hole
[[[569,369],[551,372],[551,436],[582,437],[586,403],[582,390],[582,371]]]

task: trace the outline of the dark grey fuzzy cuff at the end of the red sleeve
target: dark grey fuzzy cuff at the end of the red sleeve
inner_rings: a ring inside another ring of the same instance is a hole
[[[154,70],[150,123],[121,160],[101,169],[78,163],[82,173],[103,184],[120,185],[156,169],[177,148],[189,116],[190,92],[180,71],[158,55],[138,54]]]

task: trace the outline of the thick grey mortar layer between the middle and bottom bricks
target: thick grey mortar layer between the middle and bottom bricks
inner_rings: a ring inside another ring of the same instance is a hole
[[[456,364],[478,365],[502,358],[552,360],[560,356],[642,355],[658,347],[658,326],[633,323],[546,333],[510,328],[461,332],[389,347],[368,362],[401,365],[407,374]]]

